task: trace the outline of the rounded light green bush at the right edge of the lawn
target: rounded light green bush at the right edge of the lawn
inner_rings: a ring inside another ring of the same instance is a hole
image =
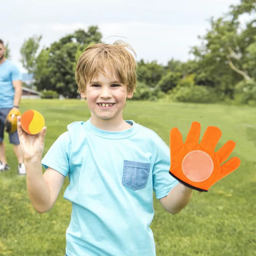
[[[255,105],[256,103],[256,82],[251,79],[241,81],[235,86],[234,100],[238,104]]]

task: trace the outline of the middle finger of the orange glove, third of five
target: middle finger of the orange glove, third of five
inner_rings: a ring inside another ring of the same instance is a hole
[[[221,137],[221,131],[218,127],[208,126],[204,132],[200,146],[206,151],[214,151]]]

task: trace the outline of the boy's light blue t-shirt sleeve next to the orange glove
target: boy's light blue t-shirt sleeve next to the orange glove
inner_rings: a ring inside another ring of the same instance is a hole
[[[170,148],[160,137],[156,138],[156,160],[153,166],[153,189],[156,198],[160,199],[168,195],[170,190],[175,187],[179,181],[170,174]]]

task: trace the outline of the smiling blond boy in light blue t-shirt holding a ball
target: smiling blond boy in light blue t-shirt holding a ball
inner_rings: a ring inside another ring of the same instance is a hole
[[[44,174],[46,127],[39,136],[30,136],[18,123],[28,194],[38,212],[52,208],[69,176],[64,194],[72,203],[67,256],[156,255],[149,228],[153,190],[172,214],[192,196],[191,188],[169,174],[170,149],[164,141],[123,119],[126,99],[136,87],[136,62],[127,46],[94,44],[80,56],[76,81],[91,118],[68,125],[42,160]]]

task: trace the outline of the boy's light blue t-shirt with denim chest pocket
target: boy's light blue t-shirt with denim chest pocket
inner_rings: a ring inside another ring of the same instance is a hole
[[[72,202],[68,256],[155,256],[153,191],[167,196],[179,182],[170,174],[170,149],[133,121],[108,132],[90,120],[68,125],[42,160],[64,176]]]

